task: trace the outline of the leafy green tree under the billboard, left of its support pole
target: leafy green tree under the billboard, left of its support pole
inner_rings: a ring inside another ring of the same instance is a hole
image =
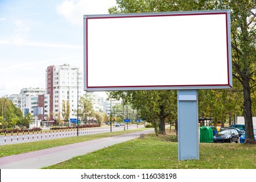
[[[139,115],[154,125],[156,135],[165,135],[165,121],[177,118],[177,92],[173,90],[142,90],[109,92],[111,98],[126,98]],[[172,117],[171,117],[172,116]]]

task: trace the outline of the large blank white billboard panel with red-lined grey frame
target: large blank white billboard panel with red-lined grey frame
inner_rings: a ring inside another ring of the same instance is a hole
[[[85,16],[85,90],[231,88],[229,12]]]

